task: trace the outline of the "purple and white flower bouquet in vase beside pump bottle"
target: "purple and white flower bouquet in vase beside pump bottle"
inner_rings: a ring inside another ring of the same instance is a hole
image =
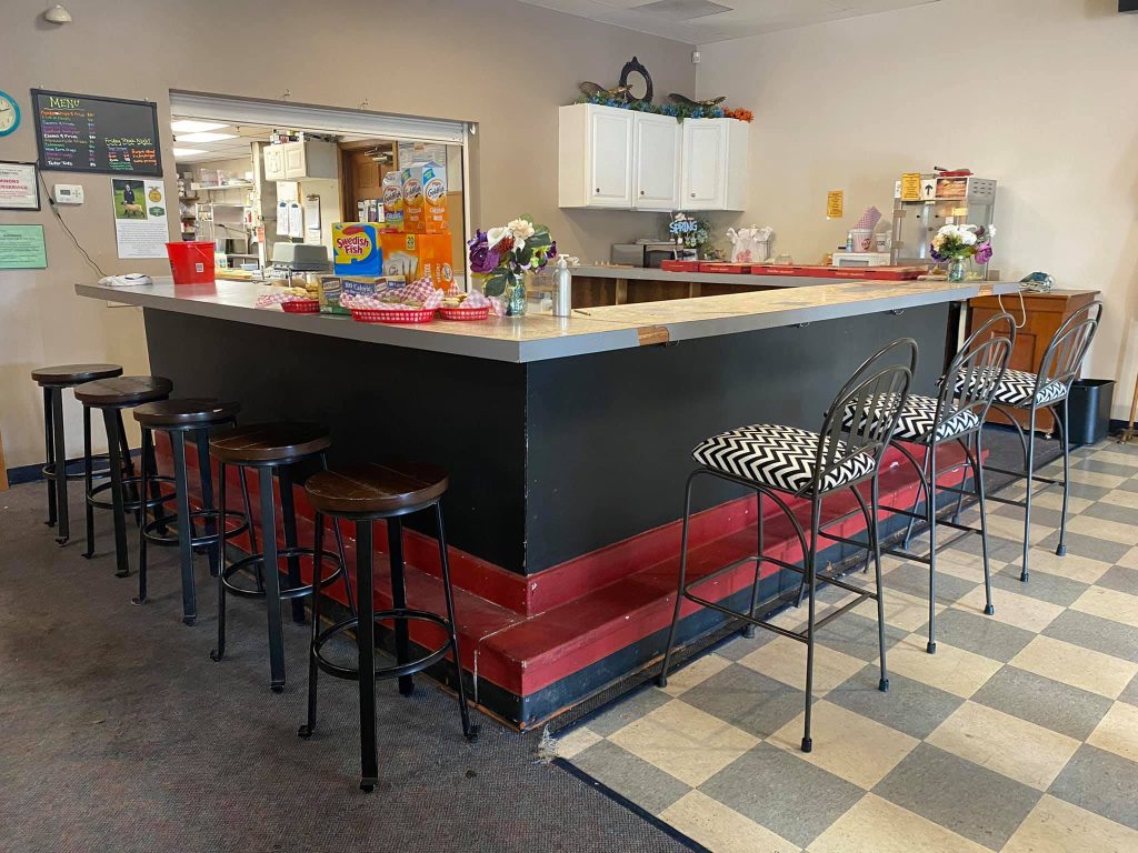
[[[486,296],[505,296],[508,316],[526,313],[526,273],[545,268],[558,254],[558,245],[545,225],[535,225],[529,216],[479,231],[467,243],[470,272],[483,278]]]

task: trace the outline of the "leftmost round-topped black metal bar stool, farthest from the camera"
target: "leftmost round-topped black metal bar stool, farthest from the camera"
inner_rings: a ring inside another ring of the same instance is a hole
[[[67,472],[67,447],[64,440],[64,389],[74,388],[97,379],[121,375],[123,375],[123,368],[117,364],[61,364],[32,371],[32,379],[43,389],[43,479],[48,482],[47,524],[56,527],[58,522],[56,541],[60,545],[71,538],[67,481],[82,480],[85,477],[83,471]],[[89,436],[91,414],[85,406],[83,407],[83,429],[84,436]],[[90,456],[90,442],[86,444],[85,450],[86,456]],[[108,456],[100,455],[97,458],[107,459]],[[57,477],[56,472],[60,470],[64,475]]]

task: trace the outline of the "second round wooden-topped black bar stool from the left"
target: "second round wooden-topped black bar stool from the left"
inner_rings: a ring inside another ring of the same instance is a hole
[[[154,448],[150,448],[149,464],[154,474],[147,480],[134,475],[134,464],[131,462],[130,448],[126,444],[126,431],[123,428],[123,409],[141,406],[170,397],[174,386],[163,376],[115,376],[99,379],[77,386],[75,399],[83,404],[84,409],[97,408],[102,413],[102,423],[107,431],[107,446],[110,457],[110,479],[108,482],[93,485],[91,455],[84,458],[84,482],[86,494],[86,552],[85,557],[94,555],[94,510],[110,510],[115,524],[115,574],[125,578],[130,574],[130,555],[126,546],[126,513],[133,512],[141,525],[149,510],[157,510],[167,500],[174,498],[173,491],[163,492],[162,485],[173,485],[172,477],[157,473],[158,466],[154,459]],[[91,447],[90,417],[85,417],[84,444]],[[118,440],[115,440],[118,437]],[[124,477],[125,474],[125,477]],[[109,490],[110,500],[101,495]],[[146,492],[150,492],[150,497]]]

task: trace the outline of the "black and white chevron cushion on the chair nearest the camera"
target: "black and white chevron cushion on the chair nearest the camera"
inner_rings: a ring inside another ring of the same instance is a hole
[[[840,442],[838,458],[844,453],[844,442]],[[720,432],[692,450],[692,457],[701,465],[791,492],[814,482],[817,455],[817,432],[773,423]],[[828,491],[858,480],[872,473],[874,465],[868,454],[851,456],[826,474],[822,488]]]

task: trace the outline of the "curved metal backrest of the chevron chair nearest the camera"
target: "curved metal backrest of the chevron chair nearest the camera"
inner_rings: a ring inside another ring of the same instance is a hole
[[[826,409],[822,423],[813,485],[816,494],[824,490],[823,485],[832,473],[857,456],[868,456],[873,471],[880,469],[908,399],[916,367],[917,342],[901,338],[853,371]],[[851,419],[847,416],[849,413],[853,415]]]

